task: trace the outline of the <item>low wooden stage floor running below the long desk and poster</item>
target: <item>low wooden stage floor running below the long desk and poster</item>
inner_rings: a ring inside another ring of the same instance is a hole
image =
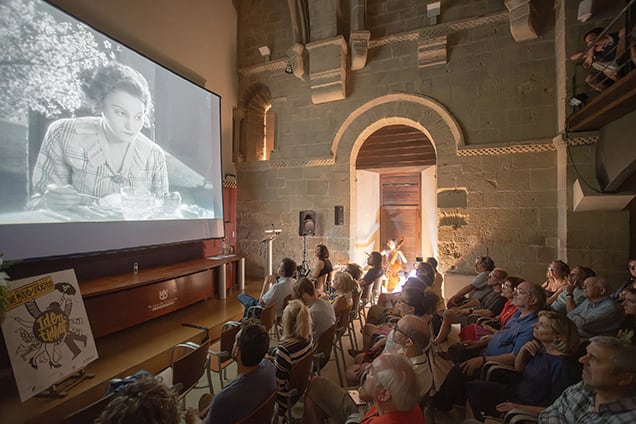
[[[258,296],[261,279],[248,280],[245,292]],[[112,378],[125,377],[145,369],[157,373],[169,365],[170,350],[186,341],[200,343],[206,332],[183,326],[193,324],[209,328],[212,340],[219,338],[223,323],[240,319],[243,306],[236,299],[238,290],[228,292],[226,300],[201,301],[97,339],[99,359],[87,367],[96,376],[85,380],[60,399],[35,397],[21,403],[11,376],[0,379],[0,421],[3,424],[60,422],[71,412],[99,399]],[[112,310],[112,314],[126,314]]]

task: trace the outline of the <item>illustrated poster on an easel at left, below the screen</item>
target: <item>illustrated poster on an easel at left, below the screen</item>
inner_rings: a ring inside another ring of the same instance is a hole
[[[97,359],[72,269],[11,281],[2,333],[22,402]]]

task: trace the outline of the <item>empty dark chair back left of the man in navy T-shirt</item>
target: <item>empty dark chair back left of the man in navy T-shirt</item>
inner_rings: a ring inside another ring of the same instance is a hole
[[[172,385],[179,387],[179,398],[183,398],[199,382],[207,371],[210,363],[208,348],[210,341],[200,345],[194,342],[179,343],[170,352],[170,367],[172,368]],[[186,351],[175,359],[178,351]],[[179,386],[180,385],[180,386]]]

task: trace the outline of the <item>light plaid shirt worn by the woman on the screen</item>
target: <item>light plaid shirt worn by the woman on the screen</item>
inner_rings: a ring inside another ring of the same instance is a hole
[[[163,150],[143,134],[133,141],[121,166],[106,159],[102,118],[83,117],[53,122],[44,137],[33,169],[33,197],[29,208],[40,206],[49,184],[71,184],[78,192],[104,197],[126,186],[145,188],[157,197],[168,192]],[[90,203],[90,199],[86,199]]]

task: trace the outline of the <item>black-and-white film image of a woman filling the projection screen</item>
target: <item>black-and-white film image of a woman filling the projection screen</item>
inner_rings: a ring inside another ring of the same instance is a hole
[[[222,216],[220,99],[42,1],[0,1],[0,225]]]

